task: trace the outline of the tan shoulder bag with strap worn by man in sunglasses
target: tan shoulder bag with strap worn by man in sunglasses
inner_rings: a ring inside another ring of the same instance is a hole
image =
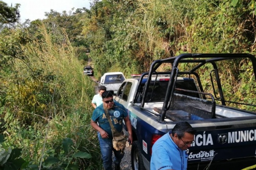
[[[106,116],[108,118],[108,122],[110,124],[111,132],[112,132],[112,135],[113,135],[113,148],[116,151],[121,150],[121,153],[124,153],[124,148],[126,146],[127,137],[126,137],[126,135],[123,134],[123,131],[118,132],[116,130],[116,128],[114,128],[113,123],[112,123],[112,121],[110,119],[110,116],[108,114],[108,110],[105,109],[105,108],[104,108],[104,110],[105,110]]]

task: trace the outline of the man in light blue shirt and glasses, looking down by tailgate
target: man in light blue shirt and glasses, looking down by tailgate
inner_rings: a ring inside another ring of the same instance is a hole
[[[153,145],[150,170],[186,170],[188,154],[185,150],[195,142],[195,134],[196,130],[188,122],[177,123]]]

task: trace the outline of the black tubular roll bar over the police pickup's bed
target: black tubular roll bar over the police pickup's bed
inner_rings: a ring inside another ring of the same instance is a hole
[[[188,59],[191,58],[191,59]],[[204,59],[205,58],[205,59]],[[218,74],[218,68],[215,62],[217,61],[223,61],[223,60],[231,60],[231,59],[239,59],[239,58],[249,58],[252,62],[252,68],[253,68],[253,73],[254,73],[254,77],[256,80],[256,58],[254,55],[251,54],[244,54],[244,53],[237,53],[237,54],[181,54],[178,56],[174,56],[174,57],[169,57],[169,58],[165,58],[165,59],[160,59],[160,60],[155,60],[151,66],[150,66],[150,70],[147,73],[148,75],[148,79],[147,82],[145,84],[145,88],[143,90],[143,97],[142,97],[142,101],[141,101],[141,107],[144,107],[145,104],[145,99],[146,99],[146,93],[148,92],[148,87],[151,81],[151,77],[153,74],[157,74],[156,70],[157,68],[159,68],[159,66],[162,63],[171,63],[172,64],[172,71],[170,74],[170,80],[168,83],[168,89],[165,95],[165,100],[164,100],[164,105],[163,105],[163,109],[161,112],[161,117],[160,117],[160,121],[164,121],[164,117],[166,114],[166,110],[168,109],[168,102],[169,99],[172,96],[173,90],[171,90],[172,87],[174,87],[175,85],[175,78],[177,78],[177,75],[179,75],[179,70],[178,70],[178,64],[179,63],[198,63],[198,65],[196,67],[194,67],[192,70],[188,71],[188,73],[192,73],[194,72],[196,69],[200,68],[201,66],[203,66],[205,63],[212,63],[213,67],[214,67],[214,72],[215,72],[215,76],[216,76],[216,81],[217,81],[217,86],[218,86],[218,90],[220,92],[220,100],[222,105],[225,105],[225,100],[224,100],[224,95],[222,92],[222,87],[220,84],[220,77]],[[140,83],[142,81],[142,76],[140,78]],[[199,81],[200,82],[200,81]],[[200,90],[202,87],[200,87]],[[136,91],[136,95],[138,94],[138,90],[139,88],[137,88]],[[135,97],[133,102],[135,102]]]

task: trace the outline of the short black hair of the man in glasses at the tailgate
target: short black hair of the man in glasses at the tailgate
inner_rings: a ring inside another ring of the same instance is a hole
[[[185,132],[195,135],[196,129],[193,129],[188,122],[179,122],[173,127],[172,136],[176,133],[180,138],[184,136]]]

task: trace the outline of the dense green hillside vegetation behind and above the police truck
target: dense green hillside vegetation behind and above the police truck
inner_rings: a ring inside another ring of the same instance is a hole
[[[128,77],[148,71],[156,59],[182,53],[255,55],[255,8],[254,0],[94,1],[83,34],[99,76],[122,70]],[[221,63],[226,68],[221,81],[225,91],[232,92],[226,99],[235,95],[233,101],[256,103],[251,64],[246,60]]]

